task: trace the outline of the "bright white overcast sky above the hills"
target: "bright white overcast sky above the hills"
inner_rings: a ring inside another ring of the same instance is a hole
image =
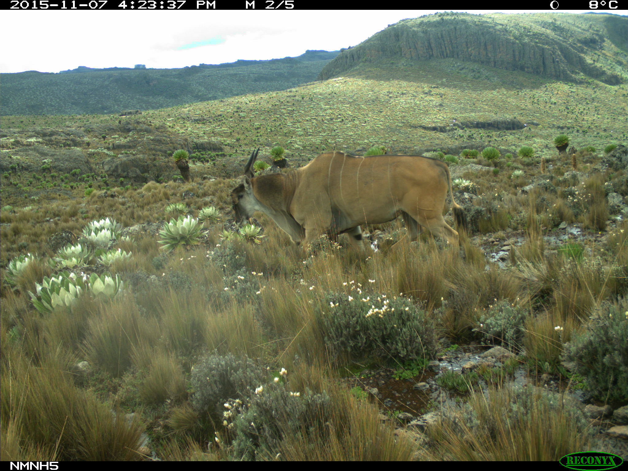
[[[439,10],[3,11],[0,73],[59,72],[79,65],[180,68],[298,56],[308,49],[335,51],[401,19]]]

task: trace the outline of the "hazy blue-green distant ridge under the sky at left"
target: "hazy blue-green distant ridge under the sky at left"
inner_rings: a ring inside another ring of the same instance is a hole
[[[60,73],[2,74],[0,113],[108,114],[158,109],[234,95],[286,90],[313,82],[339,51],[183,68],[85,66]]]

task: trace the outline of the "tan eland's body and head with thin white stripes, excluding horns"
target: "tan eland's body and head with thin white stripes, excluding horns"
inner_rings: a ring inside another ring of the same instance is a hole
[[[357,246],[360,225],[382,224],[399,215],[408,225],[412,241],[421,230],[429,230],[458,246],[458,232],[442,215],[451,179],[447,165],[440,160],[327,152],[287,175],[245,180],[232,192],[234,208],[239,206],[236,214],[242,213],[247,219],[254,210],[261,210],[293,241],[305,238],[305,247],[325,232],[348,232],[352,236],[349,240]],[[453,193],[452,207],[463,223],[462,208],[453,200]],[[360,248],[364,249],[364,244]]]

